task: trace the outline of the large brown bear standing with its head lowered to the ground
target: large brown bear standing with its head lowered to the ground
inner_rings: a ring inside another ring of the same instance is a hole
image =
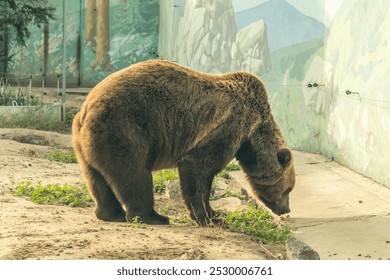
[[[177,167],[191,218],[218,222],[211,185],[234,157],[259,199],[278,215],[290,211],[292,153],[253,74],[211,75],[163,60],[134,64],[92,89],[72,133],[98,219],[168,224],[154,210],[152,171]]]

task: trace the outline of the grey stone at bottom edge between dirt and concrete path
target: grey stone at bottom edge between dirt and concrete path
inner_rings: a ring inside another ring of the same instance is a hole
[[[287,258],[290,260],[319,260],[320,255],[309,245],[296,237],[290,237],[286,243]]]

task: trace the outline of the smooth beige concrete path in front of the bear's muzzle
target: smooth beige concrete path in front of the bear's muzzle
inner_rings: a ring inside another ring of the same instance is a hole
[[[286,223],[321,259],[390,260],[390,189],[330,161],[295,152]],[[241,172],[234,178],[248,187]]]

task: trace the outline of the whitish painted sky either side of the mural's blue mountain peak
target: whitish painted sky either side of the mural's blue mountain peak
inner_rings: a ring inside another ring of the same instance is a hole
[[[269,0],[232,0],[235,12],[246,10]],[[287,0],[292,6],[307,16],[321,21],[329,27],[337,10],[344,0]]]

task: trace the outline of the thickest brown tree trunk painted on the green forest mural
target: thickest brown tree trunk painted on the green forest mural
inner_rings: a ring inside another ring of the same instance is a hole
[[[99,0],[96,58],[93,68],[100,66],[103,70],[112,71],[108,53],[110,51],[109,9],[109,0]]]

